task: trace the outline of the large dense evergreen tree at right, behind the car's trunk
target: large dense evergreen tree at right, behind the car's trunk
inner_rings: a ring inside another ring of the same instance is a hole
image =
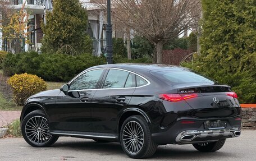
[[[256,1],[202,0],[202,51],[195,70],[256,102]]]

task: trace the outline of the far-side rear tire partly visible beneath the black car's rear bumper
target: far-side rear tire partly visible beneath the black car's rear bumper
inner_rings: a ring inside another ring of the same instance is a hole
[[[196,150],[201,152],[213,152],[220,150],[225,144],[226,139],[222,139],[216,142],[204,142],[200,144],[193,144]]]

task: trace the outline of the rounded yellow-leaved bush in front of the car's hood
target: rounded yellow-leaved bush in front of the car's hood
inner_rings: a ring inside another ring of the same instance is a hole
[[[43,79],[28,73],[15,74],[7,82],[12,87],[13,98],[18,105],[24,105],[25,100],[29,96],[47,89],[47,85]]]

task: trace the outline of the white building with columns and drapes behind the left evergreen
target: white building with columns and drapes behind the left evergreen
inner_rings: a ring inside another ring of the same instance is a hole
[[[22,8],[22,4],[25,4],[25,11],[29,11],[30,16],[29,20],[29,44],[25,44],[24,50],[40,50],[42,45],[43,33],[40,27],[40,22],[43,21],[44,16],[44,8],[45,8],[46,0],[12,0],[12,4],[10,7],[19,11]],[[99,55],[102,50],[106,47],[106,24],[107,17],[104,15],[103,11],[100,10],[94,3],[90,3],[90,0],[80,0],[81,4],[88,11],[88,34],[92,39],[94,39],[93,47],[94,54]],[[54,8],[54,6],[53,6]],[[1,18],[1,17],[0,17]],[[113,29],[115,29],[115,24],[113,24]],[[4,44],[3,38],[1,39],[1,31],[0,31],[0,50],[1,43]],[[117,35],[117,36],[116,36]],[[122,37],[122,33],[117,33],[113,30],[113,37]],[[9,51],[12,51],[11,43],[8,44]],[[2,48],[2,50],[4,50]]]

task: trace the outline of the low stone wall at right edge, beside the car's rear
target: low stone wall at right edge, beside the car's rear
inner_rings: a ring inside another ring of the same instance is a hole
[[[256,108],[242,108],[242,127],[256,130]]]

